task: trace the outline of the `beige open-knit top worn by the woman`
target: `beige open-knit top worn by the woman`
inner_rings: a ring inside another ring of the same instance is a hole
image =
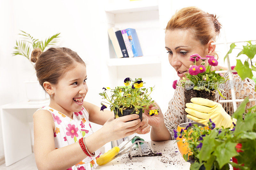
[[[228,78],[228,73],[225,73],[224,76],[226,79]],[[245,97],[249,96],[250,99],[256,98],[255,93],[255,82],[250,78],[245,78],[243,81],[238,76],[238,74],[233,75],[233,81],[234,81],[234,90],[236,93],[236,99],[244,99]],[[186,117],[185,114],[185,102],[184,102],[184,90],[185,88],[180,86],[181,83],[178,81],[178,86],[175,89],[174,96],[172,100],[169,102],[168,109],[166,113],[164,114],[164,123],[167,129],[169,130],[172,140],[174,140],[174,132],[173,129],[177,129],[177,126],[181,123],[185,122],[192,122]],[[222,92],[223,96],[226,97],[226,100],[231,99],[231,90],[230,90],[230,81],[228,80],[225,84],[220,84],[219,88],[224,90],[225,92]],[[219,102],[219,100],[225,100],[220,96],[218,92],[215,93],[216,102]],[[229,114],[233,114],[233,103],[220,103],[225,111]],[[237,107],[241,104],[241,102],[237,102]],[[255,102],[249,102],[247,103],[246,108],[250,108],[255,105]]]

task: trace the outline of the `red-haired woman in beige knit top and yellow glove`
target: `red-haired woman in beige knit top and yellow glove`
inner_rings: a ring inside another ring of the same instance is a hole
[[[177,71],[180,79],[186,77],[185,73],[187,73],[189,66],[193,65],[193,63],[189,61],[190,55],[199,54],[202,57],[213,55],[216,59],[218,58],[215,53],[216,45],[212,45],[212,42],[215,42],[216,37],[220,33],[220,28],[221,24],[217,20],[216,15],[208,14],[196,7],[183,8],[172,16],[165,30],[165,48],[168,53],[169,62]],[[196,65],[200,65],[201,62],[202,60],[199,60],[196,62]],[[219,69],[227,70],[226,67],[219,65],[212,67],[212,70]],[[228,73],[224,74],[223,77],[228,78]],[[246,96],[249,96],[249,98],[256,98],[254,90],[255,82],[253,80],[245,78],[245,80],[242,81],[237,74],[234,74],[233,81],[240,83],[240,88],[239,86],[234,87],[237,99],[244,99]],[[178,85],[181,85],[179,81]],[[225,90],[223,94],[224,97],[231,99],[229,81],[227,81],[226,84],[221,84],[220,88]],[[218,108],[217,110],[209,111],[209,114],[213,114],[215,117],[216,122],[214,123],[216,126],[233,126],[235,120],[230,117],[234,112],[233,104],[221,103],[220,105],[218,103],[219,100],[224,100],[219,93],[215,94],[215,101],[194,98],[194,101],[191,101],[196,104],[190,103],[189,106],[186,105],[188,108],[185,110],[184,88],[182,88],[182,86],[177,86],[165,115],[162,114],[160,108],[158,115],[148,116],[148,111],[144,112],[149,120],[148,123],[152,126],[151,140],[175,140],[173,137],[173,129],[176,130],[180,123],[192,122],[192,120],[196,122],[208,122],[209,117],[205,118],[205,113],[200,112],[202,111],[200,110],[202,107],[205,109],[205,106],[201,105],[202,101],[208,102],[207,106],[214,108],[216,106]],[[240,104],[241,102],[237,102],[237,107]],[[254,105],[254,101],[249,102],[247,103],[247,108]],[[151,107],[151,109],[157,108],[157,106]],[[188,113],[187,116],[185,111]]]

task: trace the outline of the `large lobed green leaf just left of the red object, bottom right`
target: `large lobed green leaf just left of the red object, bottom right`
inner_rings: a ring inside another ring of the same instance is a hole
[[[230,158],[238,155],[236,152],[236,143],[227,142],[218,145],[213,152],[216,160],[219,163],[220,169],[230,162]]]

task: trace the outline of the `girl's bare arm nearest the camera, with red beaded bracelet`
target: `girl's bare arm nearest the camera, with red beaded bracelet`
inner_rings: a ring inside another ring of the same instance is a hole
[[[136,133],[140,127],[139,115],[133,114],[119,119],[109,119],[104,126],[86,137],[85,144],[92,153],[104,144]],[[136,119],[136,120],[134,120]],[[133,120],[131,122],[127,122]],[[78,142],[62,148],[55,148],[54,122],[50,112],[38,110],[33,115],[34,152],[39,170],[68,169],[82,161],[86,156]]]

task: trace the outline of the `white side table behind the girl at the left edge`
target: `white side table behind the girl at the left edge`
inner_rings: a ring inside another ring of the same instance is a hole
[[[28,122],[33,122],[32,115],[38,108],[49,103],[49,100],[38,104],[26,101],[0,107],[6,166],[32,154]]]

